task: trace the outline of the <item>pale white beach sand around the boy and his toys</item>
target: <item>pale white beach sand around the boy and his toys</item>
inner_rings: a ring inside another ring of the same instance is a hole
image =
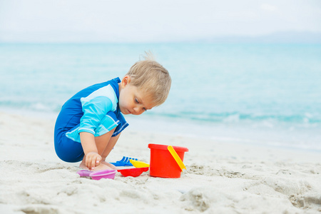
[[[80,178],[54,152],[54,119],[0,112],[0,213],[320,213],[321,156],[131,131],[108,161],[149,163],[148,143],[188,148],[181,178],[149,172],[114,180]]]

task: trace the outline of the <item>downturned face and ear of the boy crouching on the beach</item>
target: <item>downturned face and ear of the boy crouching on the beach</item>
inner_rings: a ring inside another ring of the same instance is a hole
[[[130,77],[125,76],[119,83],[119,108],[123,114],[140,115],[153,108],[152,99],[130,84]]]

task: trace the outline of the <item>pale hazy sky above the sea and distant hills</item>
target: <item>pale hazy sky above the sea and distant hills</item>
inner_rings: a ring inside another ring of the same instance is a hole
[[[0,0],[0,42],[166,42],[321,35],[320,0]]]

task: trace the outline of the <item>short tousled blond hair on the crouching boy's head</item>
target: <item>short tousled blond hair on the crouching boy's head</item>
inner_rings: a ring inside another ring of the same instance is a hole
[[[131,84],[153,98],[155,106],[165,102],[170,91],[171,78],[168,71],[155,61],[151,52],[146,52],[144,60],[138,61],[126,75],[131,77]]]

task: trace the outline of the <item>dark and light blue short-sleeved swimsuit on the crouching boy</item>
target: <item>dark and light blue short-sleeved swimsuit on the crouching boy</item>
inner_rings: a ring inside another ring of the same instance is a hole
[[[61,160],[78,162],[83,159],[79,133],[102,136],[116,127],[112,136],[117,136],[128,126],[118,106],[120,82],[119,78],[114,78],[89,86],[62,106],[54,133],[56,154]]]

